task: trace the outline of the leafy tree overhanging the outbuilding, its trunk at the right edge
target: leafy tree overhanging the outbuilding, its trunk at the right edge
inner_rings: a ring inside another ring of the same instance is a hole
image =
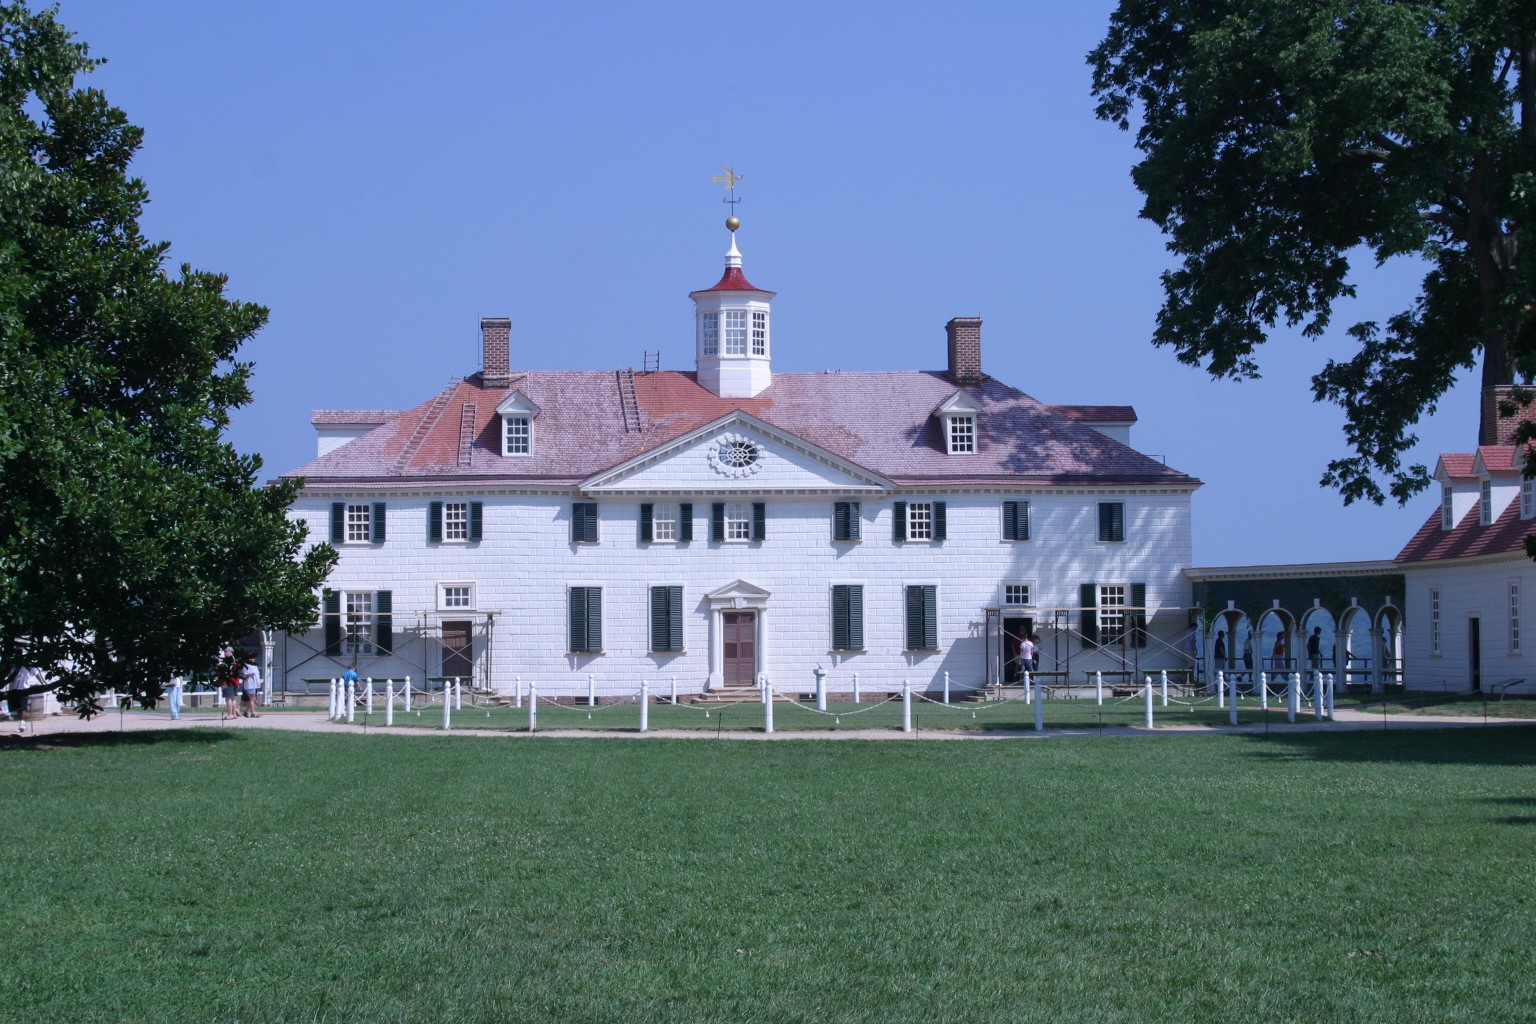
[[[1123,0],[1087,60],[1181,259],[1154,333],[1180,361],[1258,376],[1276,324],[1318,336],[1355,293],[1356,250],[1427,263],[1412,307],[1350,327],[1356,353],[1312,379],[1346,413],[1352,453],[1322,476],[1346,504],[1428,484],[1401,462],[1410,430],[1479,358],[1484,387],[1531,379],[1530,0]]]

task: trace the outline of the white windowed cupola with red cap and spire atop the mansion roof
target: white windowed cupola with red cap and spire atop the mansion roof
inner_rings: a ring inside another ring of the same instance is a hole
[[[756,398],[773,384],[770,304],[774,292],[753,287],[736,249],[740,221],[727,218],[731,249],[725,273],[711,289],[690,292],[694,306],[694,352],[699,384],[720,398]]]

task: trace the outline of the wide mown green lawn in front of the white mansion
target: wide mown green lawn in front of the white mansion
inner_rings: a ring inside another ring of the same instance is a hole
[[[1530,1021],[1536,729],[0,746],[5,1021]]]

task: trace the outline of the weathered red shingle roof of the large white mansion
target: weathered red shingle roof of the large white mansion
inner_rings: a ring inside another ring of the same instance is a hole
[[[468,378],[290,476],[315,484],[439,477],[570,485],[740,410],[899,484],[1200,485],[991,378],[965,388],[982,407],[978,451],[966,456],[946,454],[932,416],[955,391],[938,372],[777,373],[757,398],[719,398],[693,373],[637,373],[637,428],[627,427],[619,379],[611,370],[535,370],[485,388]],[[533,453],[502,457],[495,410],[513,390],[541,411]],[[465,465],[459,425],[467,405],[475,441]]]

